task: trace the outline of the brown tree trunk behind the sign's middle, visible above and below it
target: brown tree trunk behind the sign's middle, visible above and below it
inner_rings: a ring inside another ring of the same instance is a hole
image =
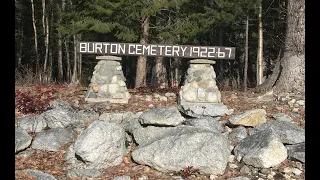
[[[146,44],[149,36],[149,15],[142,17],[140,26],[140,44]],[[138,56],[135,88],[146,86],[147,57]]]

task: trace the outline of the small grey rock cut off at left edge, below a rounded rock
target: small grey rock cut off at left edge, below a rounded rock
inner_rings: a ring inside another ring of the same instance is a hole
[[[15,129],[15,153],[30,146],[32,137],[22,129]]]

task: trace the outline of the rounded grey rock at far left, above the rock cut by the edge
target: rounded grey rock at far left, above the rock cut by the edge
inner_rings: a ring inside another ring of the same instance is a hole
[[[17,128],[23,129],[28,133],[41,132],[47,127],[47,121],[41,115],[23,116],[17,119]]]

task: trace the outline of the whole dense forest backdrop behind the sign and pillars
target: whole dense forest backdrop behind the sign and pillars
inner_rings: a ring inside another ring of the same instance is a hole
[[[216,60],[217,85],[222,90],[253,88],[261,84],[257,77],[265,79],[272,74],[284,46],[287,3],[284,0],[15,0],[16,83],[88,85],[97,60],[95,55],[76,54],[75,44],[97,41],[235,47],[235,60]],[[262,47],[259,42],[263,43]],[[127,86],[182,85],[188,60],[123,56]],[[259,60],[263,62],[262,77],[257,76]],[[145,66],[145,75],[141,66]],[[145,82],[137,84],[136,72],[142,73]]]

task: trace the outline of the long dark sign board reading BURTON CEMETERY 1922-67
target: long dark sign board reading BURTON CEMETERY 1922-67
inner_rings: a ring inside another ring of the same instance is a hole
[[[124,56],[162,56],[203,59],[235,59],[235,48],[223,46],[78,42],[77,53]]]

